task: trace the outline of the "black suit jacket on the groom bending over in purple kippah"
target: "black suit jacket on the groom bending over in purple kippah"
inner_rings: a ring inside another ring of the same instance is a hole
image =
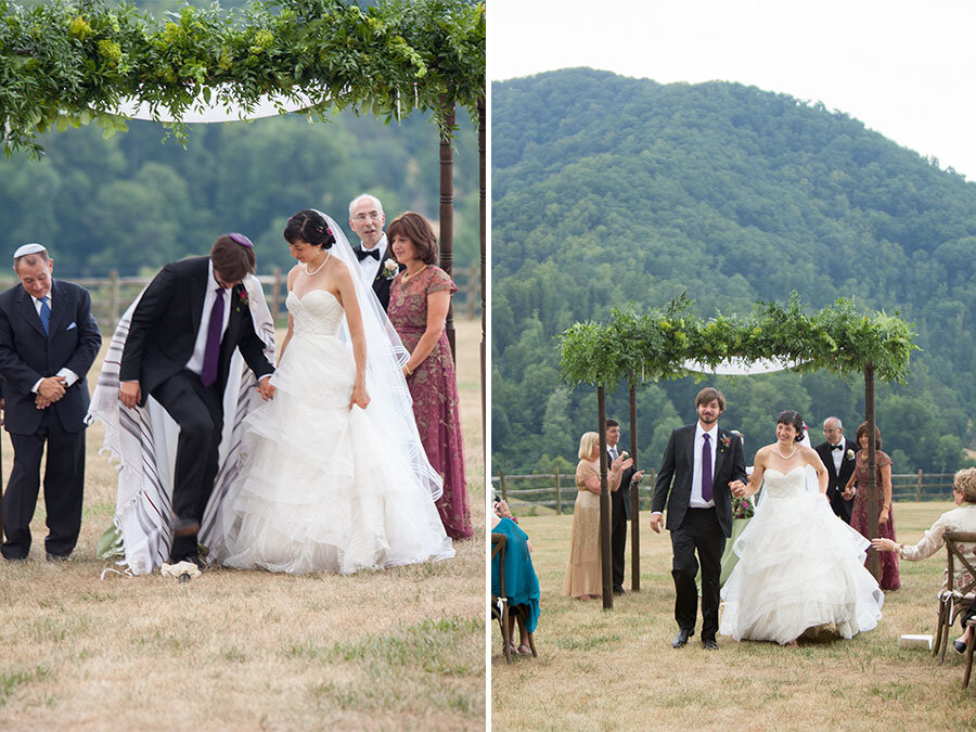
[[[185,368],[193,355],[208,278],[208,257],[171,262],[156,274],[136,306],[119,380],[139,381],[143,402],[159,384]],[[274,371],[254,332],[249,306],[242,299],[245,293],[244,285],[237,284],[230,295],[230,318],[220,342],[217,371],[221,389],[235,348],[258,378]]]

